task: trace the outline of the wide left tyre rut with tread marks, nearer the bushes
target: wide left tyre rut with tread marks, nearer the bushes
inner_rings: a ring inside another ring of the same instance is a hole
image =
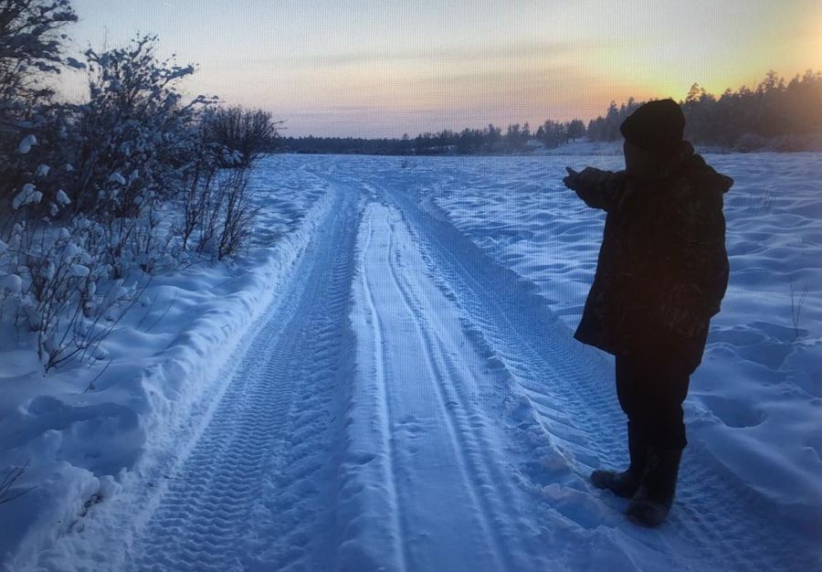
[[[133,569],[332,565],[355,217],[353,197],[338,192],[285,302],[133,547]]]

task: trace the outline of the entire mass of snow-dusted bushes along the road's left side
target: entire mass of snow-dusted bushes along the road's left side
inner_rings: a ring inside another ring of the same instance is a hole
[[[25,41],[0,37],[0,48],[33,50],[0,49],[0,79],[15,61],[39,62],[37,80],[22,89],[57,69],[59,38],[50,34],[76,18],[68,0],[0,0],[0,35],[18,5],[52,18]],[[21,17],[35,17],[26,10]],[[248,173],[274,124],[262,111],[205,113],[215,99],[184,101],[178,86],[194,67],[156,58],[156,41],[64,62],[88,70],[83,104],[53,103],[47,90],[0,90],[0,134],[11,133],[0,144],[0,323],[12,321],[17,339],[37,347],[46,371],[100,357],[136,300],[124,283],[234,256],[253,228]],[[216,141],[218,123],[225,142]]]

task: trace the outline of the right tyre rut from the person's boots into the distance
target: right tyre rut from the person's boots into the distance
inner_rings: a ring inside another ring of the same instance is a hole
[[[603,379],[604,360],[569,340],[567,328],[532,288],[450,223],[398,192],[390,198],[408,220],[438,286],[464,310],[477,342],[525,390],[554,445],[573,453],[585,474],[603,462],[626,461],[620,445],[625,428],[614,430],[621,411],[612,384]]]

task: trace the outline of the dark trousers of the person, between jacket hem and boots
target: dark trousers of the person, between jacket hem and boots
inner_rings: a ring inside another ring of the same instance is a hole
[[[617,397],[632,433],[647,447],[684,449],[682,402],[690,375],[659,356],[617,355]]]

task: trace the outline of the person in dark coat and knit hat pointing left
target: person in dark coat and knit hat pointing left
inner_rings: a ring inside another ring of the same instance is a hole
[[[668,516],[682,450],[682,402],[700,365],[711,316],[728,283],[720,175],[682,140],[672,100],[639,107],[620,127],[626,169],[572,169],[564,184],[606,211],[594,283],[574,337],[616,356],[630,466],[594,471],[600,488],[631,499],[647,526]]]

